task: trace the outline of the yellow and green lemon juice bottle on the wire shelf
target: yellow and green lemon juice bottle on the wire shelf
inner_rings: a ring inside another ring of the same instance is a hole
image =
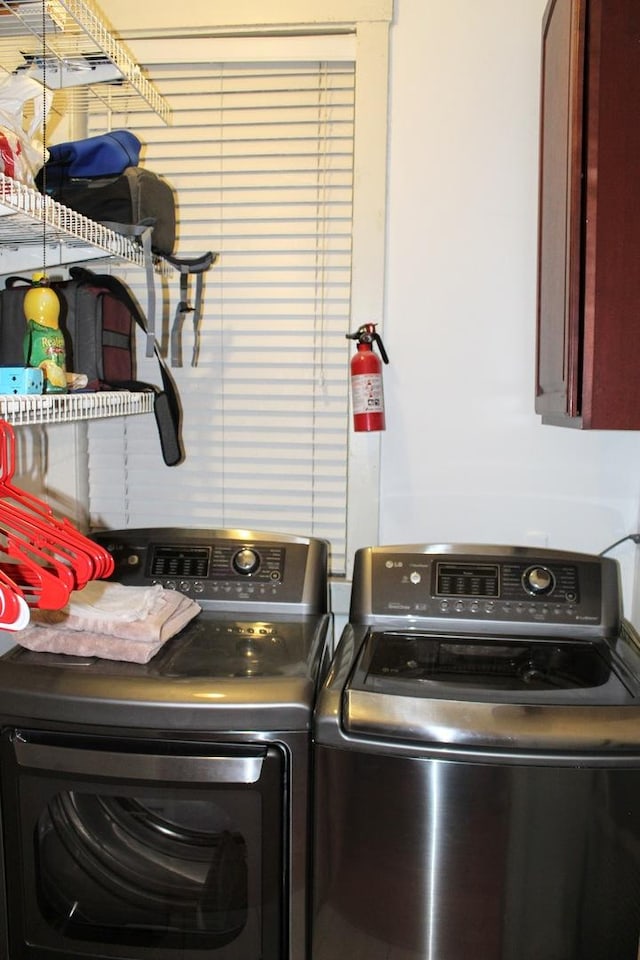
[[[44,273],[34,273],[24,298],[27,330],[24,361],[28,367],[40,367],[45,393],[66,393],[66,356],[60,330],[60,301]]]

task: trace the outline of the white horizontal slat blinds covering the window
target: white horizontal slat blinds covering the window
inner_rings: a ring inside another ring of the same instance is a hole
[[[325,537],[345,573],[354,64],[153,68],[173,111],[110,117],[174,187],[177,252],[219,251],[206,275],[198,366],[173,374],[186,459],[164,466],[149,417],[89,429],[93,527],[241,527]],[[104,116],[89,132],[104,129]],[[144,276],[114,269],[141,305]],[[165,288],[164,344],[178,300]],[[138,351],[138,376],[158,383]]]

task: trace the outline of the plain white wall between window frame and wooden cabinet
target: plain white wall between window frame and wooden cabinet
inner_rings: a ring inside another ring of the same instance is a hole
[[[545,3],[395,0],[383,543],[598,552],[638,530],[640,435],[534,412]],[[635,552],[612,554],[629,615]]]

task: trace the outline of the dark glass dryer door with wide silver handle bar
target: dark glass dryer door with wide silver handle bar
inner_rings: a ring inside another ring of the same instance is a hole
[[[11,956],[280,956],[279,749],[14,730],[2,751]]]

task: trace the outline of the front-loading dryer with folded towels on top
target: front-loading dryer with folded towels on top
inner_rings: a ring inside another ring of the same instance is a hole
[[[202,612],[146,665],[0,657],[0,957],[304,960],[327,545],[98,539]]]

